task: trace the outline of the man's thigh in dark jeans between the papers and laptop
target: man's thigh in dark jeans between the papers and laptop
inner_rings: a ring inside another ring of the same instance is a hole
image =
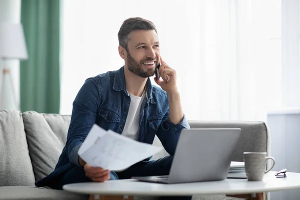
[[[165,156],[147,162],[140,161],[128,169],[119,172],[119,179],[131,178],[131,176],[168,175],[170,172],[173,156]]]

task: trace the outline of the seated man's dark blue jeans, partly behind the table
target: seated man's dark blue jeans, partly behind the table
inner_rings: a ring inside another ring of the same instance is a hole
[[[165,156],[147,162],[140,161],[124,171],[110,171],[109,180],[126,179],[131,178],[132,176],[168,175],[172,160],[173,156]],[[91,179],[85,176],[85,171],[82,167],[75,167],[62,176],[62,178],[58,181],[57,187],[53,189],[62,189],[62,185],[64,184],[91,181]],[[160,199],[190,200],[191,196],[162,196]]]

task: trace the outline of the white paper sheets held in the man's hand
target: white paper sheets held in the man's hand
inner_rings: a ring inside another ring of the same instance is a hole
[[[91,166],[122,170],[160,151],[162,147],[142,143],[104,130],[94,124],[78,150]]]

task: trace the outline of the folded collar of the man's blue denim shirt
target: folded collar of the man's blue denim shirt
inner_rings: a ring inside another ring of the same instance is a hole
[[[113,80],[113,87],[116,91],[123,90],[126,95],[129,95],[126,89],[126,81],[125,81],[125,75],[124,75],[124,66],[119,68],[116,73],[114,74],[114,80]],[[146,91],[147,91],[147,102],[151,102],[152,104],[155,104],[155,101],[152,97],[152,83],[150,78],[146,81]]]

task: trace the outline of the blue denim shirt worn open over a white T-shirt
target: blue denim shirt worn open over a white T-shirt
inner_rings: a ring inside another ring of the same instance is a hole
[[[77,152],[94,123],[105,130],[111,129],[121,134],[129,104],[130,96],[126,90],[124,66],[86,79],[73,101],[66,144],[55,169],[45,178],[35,182],[35,185],[51,187],[55,179],[72,167],[80,167]],[[152,144],[156,134],[164,149],[170,155],[174,155],[180,131],[182,128],[188,129],[189,125],[185,116],[175,125],[169,121],[168,115],[166,92],[152,86],[148,78],[146,97],[140,110],[137,140]]]

